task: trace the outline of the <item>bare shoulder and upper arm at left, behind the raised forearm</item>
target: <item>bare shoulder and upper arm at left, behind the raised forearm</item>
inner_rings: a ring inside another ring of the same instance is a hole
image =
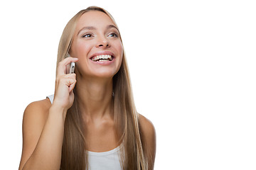
[[[23,113],[23,147],[20,168],[23,167],[36,148],[43,126],[48,118],[50,106],[51,103],[48,98],[34,101],[28,104]]]

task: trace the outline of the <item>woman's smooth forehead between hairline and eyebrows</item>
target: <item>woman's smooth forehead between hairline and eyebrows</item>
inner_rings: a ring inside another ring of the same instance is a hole
[[[84,26],[106,26],[115,25],[112,19],[107,16],[106,13],[101,11],[88,11],[83,13],[78,20],[77,28],[82,28]]]

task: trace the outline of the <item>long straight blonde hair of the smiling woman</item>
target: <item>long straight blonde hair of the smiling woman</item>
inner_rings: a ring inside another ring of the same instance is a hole
[[[101,11],[106,13],[117,26],[114,18],[103,8],[90,6],[78,12],[71,18],[63,30],[63,35],[60,38],[58,47],[57,64],[66,57],[70,50],[78,19],[87,11]],[[124,147],[119,153],[122,167],[123,169],[132,170],[148,169],[145,142],[139,128],[139,114],[134,106],[129,70],[124,53],[121,67],[117,74],[114,75],[112,81],[114,94],[112,97],[114,103],[114,125],[117,137],[119,137],[119,142],[122,142]],[[74,94],[76,94],[76,89],[74,89]],[[82,115],[80,114],[77,100],[78,98],[76,98],[75,95],[73,106],[68,110],[65,119],[60,169],[88,169],[87,147],[84,137],[86,130],[84,128],[84,122],[82,122]]]

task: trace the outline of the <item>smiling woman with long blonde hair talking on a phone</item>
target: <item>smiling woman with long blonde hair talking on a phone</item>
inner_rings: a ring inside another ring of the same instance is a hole
[[[67,74],[70,62],[75,74]],[[19,169],[154,169],[154,126],[135,110],[110,13],[96,6],[77,13],[63,30],[57,63],[54,99],[24,112]]]

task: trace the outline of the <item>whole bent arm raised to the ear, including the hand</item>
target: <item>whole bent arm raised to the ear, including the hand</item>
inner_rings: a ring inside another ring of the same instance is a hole
[[[54,101],[28,105],[23,115],[23,149],[19,169],[60,169],[65,115],[74,101],[75,74],[65,67],[78,59],[68,57],[58,64]]]

